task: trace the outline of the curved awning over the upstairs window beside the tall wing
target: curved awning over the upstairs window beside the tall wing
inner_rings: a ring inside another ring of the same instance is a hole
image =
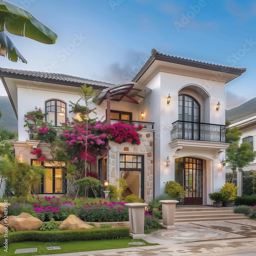
[[[142,86],[136,82],[123,82],[111,88],[103,89],[97,96],[95,102],[98,102],[100,105],[103,100],[106,99],[107,93],[110,92],[111,100],[127,101],[138,104],[142,99],[150,94],[151,91],[152,90],[150,88]]]

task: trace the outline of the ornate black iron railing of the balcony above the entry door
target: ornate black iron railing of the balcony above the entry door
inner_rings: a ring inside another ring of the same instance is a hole
[[[196,123],[176,121],[173,124],[173,130],[170,131],[170,136],[173,140],[200,140],[225,142],[226,126],[209,123]]]

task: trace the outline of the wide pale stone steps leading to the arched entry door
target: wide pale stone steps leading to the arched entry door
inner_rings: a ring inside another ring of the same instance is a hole
[[[247,220],[234,214],[233,208],[212,206],[176,206],[175,222]]]

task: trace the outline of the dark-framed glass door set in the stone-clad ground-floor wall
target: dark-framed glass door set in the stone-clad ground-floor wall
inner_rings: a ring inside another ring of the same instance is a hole
[[[122,197],[134,194],[144,199],[144,156],[120,155],[119,167],[120,177],[127,182]]]

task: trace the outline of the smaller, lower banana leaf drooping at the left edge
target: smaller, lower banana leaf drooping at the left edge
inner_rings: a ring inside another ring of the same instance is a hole
[[[23,63],[27,63],[27,60],[20,54],[5,32],[0,32],[0,55],[7,56],[9,60],[14,62],[21,60]]]

